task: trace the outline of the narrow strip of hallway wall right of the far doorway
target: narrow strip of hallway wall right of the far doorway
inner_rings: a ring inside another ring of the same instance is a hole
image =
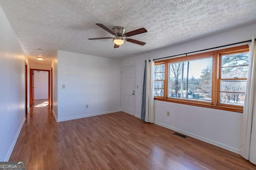
[[[58,53],[52,60],[52,112],[58,121]]]

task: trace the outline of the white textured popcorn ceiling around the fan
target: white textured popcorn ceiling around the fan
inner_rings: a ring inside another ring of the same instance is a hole
[[[27,55],[51,58],[56,50],[123,59],[256,23],[256,0],[0,0]],[[96,26],[146,28],[114,49]],[[72,57],[72,56],[70,56]],[[31,57],[30,57],[31,58]]]

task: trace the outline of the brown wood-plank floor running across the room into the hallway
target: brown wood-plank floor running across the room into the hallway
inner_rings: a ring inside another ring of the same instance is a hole
[[[56,123],[48,106],[34,107],[9,161],[25,161],[27,170],[256,169],[238,154],[173,132],[122,112]]]

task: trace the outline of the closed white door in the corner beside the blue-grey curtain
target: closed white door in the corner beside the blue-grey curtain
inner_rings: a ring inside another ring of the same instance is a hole
[[[122,69],[121,109],[125,113],[135,115],[135,66]]]

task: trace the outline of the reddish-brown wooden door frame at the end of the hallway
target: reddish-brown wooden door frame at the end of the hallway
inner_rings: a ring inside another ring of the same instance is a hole
[[[30,106],[34,104],[34,75],[33,71],[48,71],[48,103],[50,103],[50,70],[43,70],[43,69],[31,69],[30,68]]]

